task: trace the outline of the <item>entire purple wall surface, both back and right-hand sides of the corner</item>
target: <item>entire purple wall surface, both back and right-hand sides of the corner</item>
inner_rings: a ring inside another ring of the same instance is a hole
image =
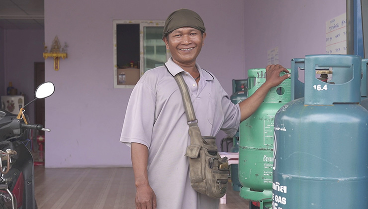
[[[131,89],[113,88],[112,20],[165,20],[178,8],[197,11],[207,28],[198,58],[231,94],[231,80],[246,69],[265,67],[267,50],[279,49],[279,63],[325,51],[325,22],[345,12],[343,0],[111,0],[45,1],[45,42],[67,42],[68,58],[46,80],[55,94],[46,99],[46,167],[131,166],[130,150],[119,142]],[[62,17],[62,18],[61,18]],[[221,134],[218,140],[223,137]]]

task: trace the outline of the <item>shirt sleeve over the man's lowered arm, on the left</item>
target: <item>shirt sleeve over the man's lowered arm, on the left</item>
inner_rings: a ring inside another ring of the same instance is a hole
[[[144,76],[134,87],[126,108],[120,142],[131,146],[140,143],[151,145],[155,117],[156,96]]]

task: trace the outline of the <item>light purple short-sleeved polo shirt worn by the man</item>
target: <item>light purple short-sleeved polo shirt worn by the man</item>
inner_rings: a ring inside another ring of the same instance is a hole
[[[157,196],[157,209],[214,209],[218,205],[218,200],[197,195],[190,187],[188,159],[184,156],[190,138],[182,95],[173,76],[184,72],[202,136],[216,136],[220,129],[233,136],[239,127],[240,108],[231,103],[212,74],[198,64],[196,67],[200,73],[198,86],[170,58],[165,66],[142,76],[127,106],[120,141],[149,148],[148,178]]]

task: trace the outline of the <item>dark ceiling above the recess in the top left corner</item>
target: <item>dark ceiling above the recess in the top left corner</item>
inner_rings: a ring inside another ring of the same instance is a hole
[[[44,29],[44,0],[0,0],[0,28]]]

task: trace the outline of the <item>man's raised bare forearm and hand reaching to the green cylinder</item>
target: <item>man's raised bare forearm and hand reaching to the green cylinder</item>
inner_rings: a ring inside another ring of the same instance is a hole
[[[282,71],[289,73],[289,71],[281,65],[268,65],[266,67],[266,82],[259,89],[257,89],[252,96],[239,103],[241,112],[240,121],[247,119],[258,109],[258,107],[265,100],[266,95],[271,88],[276,87],[277,85],[281,84],[283,80],[290,77],[290,74],[280,77],[279,75]]]

